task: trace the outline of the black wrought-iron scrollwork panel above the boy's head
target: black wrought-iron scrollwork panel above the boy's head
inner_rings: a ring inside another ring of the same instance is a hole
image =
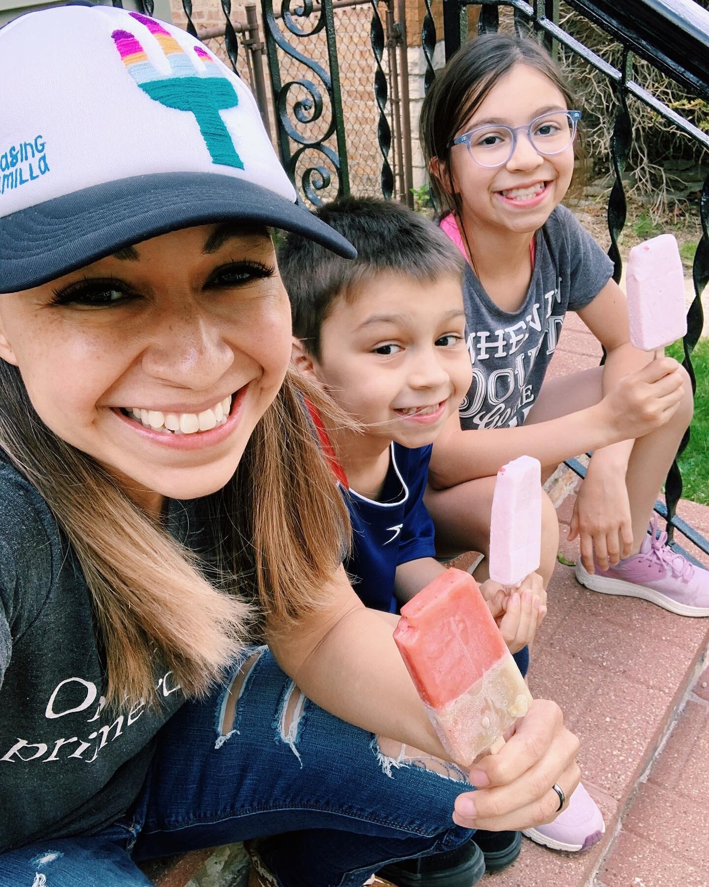
[[[342,120],[342,99],[339,90],[339,65],[337,59],[337,46],[335,43],[335,26],[332,16],[332,0],[323,0],[319,9],[316,24],[309,30],[299,27],[293,18],[290,8],[291,0],[284,0],[281,6],[281,14],[284,26],[296,37],[308,37],[318,34],[325,29],[328,47],[328,64],[330,73],[322,65],[313,59],[308,59],[302,52],[295,49],[285,39],[273,8],[273,0],[261,0],[263,21],[265,23],[266,55],[269,61],[269,73],[271,87],[273,89],[274,106],[276,109],[278,152],[285,171],[292,183],[298,188],[296,181],[296,166],[306,148],[322,153],[331,162],[338,177],[338,194],[349,192],[349,176],[347,171],[347,147],[345,145],[345,128]],[[296,17],[307,19],[314,12],[313,0],[300,0],[300,6],[296,10]],[[277,50],[281,49],[292,59],[312,71],[322,83],[331,101],[331,121],[323,136],[308,138],[299,132],[288,116],[288,95],[295,86],[300,86],[308,92],[307,98],[301,98],[292,108],[295,119],[300,123],[313,123],[319,120],[323,114],[323,94],[321,88],[315,82],[300,77],[287,83],[281,82],[280,66],[278,64]],[[337,137],[337,152],[323,143],[335,133]],[[291,153],[291,139],[302,145],[295,153]],[[331,172],[322,165],[316,164],[302,173],[302,193],[308,200],[315,204],[322,203],[317,192],[323,191],[331,184]]]

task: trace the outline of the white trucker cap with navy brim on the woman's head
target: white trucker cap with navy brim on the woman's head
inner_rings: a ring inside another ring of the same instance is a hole
[[[196,224],[298,232],[354,257],[300,206],[244,82],[178,27],[111,6],[0,30],[0,293]]]

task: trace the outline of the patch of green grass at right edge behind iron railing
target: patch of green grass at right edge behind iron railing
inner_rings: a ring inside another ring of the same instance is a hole
[[[667,354],[682,360],[682,342],[674,342]],[[690,443],[680,457],[682,498],[709,505],[709,339],[700,339],[692,352],[697,377]]]

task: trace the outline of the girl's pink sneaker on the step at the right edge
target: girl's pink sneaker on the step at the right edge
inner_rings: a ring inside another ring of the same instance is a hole
[[[576,578],[594,592],[627,594],[650,600],[680,616],[709,616],[709,570],[690,563],[666,545],[667,534],[658,538],[658,519],[643,540],[639,554],[615,567],[590,574],[576,562]]]

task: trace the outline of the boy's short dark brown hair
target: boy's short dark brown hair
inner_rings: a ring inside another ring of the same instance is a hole
[[[418,280],[463,276],[464,258],[438,225],[391,200],[342,197],[316,209],[346,237],[356,259],[343,259],[300,234],[287,234],[278,268],[291,299],[293,333],[320,358],[320,329],[333,302],[354,297],[377,274],[393,271]]]

